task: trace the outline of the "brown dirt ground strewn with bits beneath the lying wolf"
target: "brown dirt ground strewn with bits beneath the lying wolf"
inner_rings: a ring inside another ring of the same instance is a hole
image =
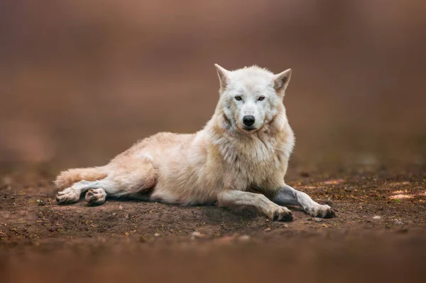
[[[411,171],[299,172],[289,183],[337,217],[294,208],[290,223],[214,206],[58,205],[45,169],[6,173],[0,281],[422,282],[426,174]]]

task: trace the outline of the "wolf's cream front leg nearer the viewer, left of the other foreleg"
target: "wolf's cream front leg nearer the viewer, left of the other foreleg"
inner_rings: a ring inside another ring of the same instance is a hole
[[[277,205],[268,200],[266,196],[258,193],[248,193],[245,191],[229,190],[219,193],[217,196],[219,206],[226,207],[246,207],[256,208],[261,213],[268,216],[272,220],[290,221],[293,214],[288,208]]]

